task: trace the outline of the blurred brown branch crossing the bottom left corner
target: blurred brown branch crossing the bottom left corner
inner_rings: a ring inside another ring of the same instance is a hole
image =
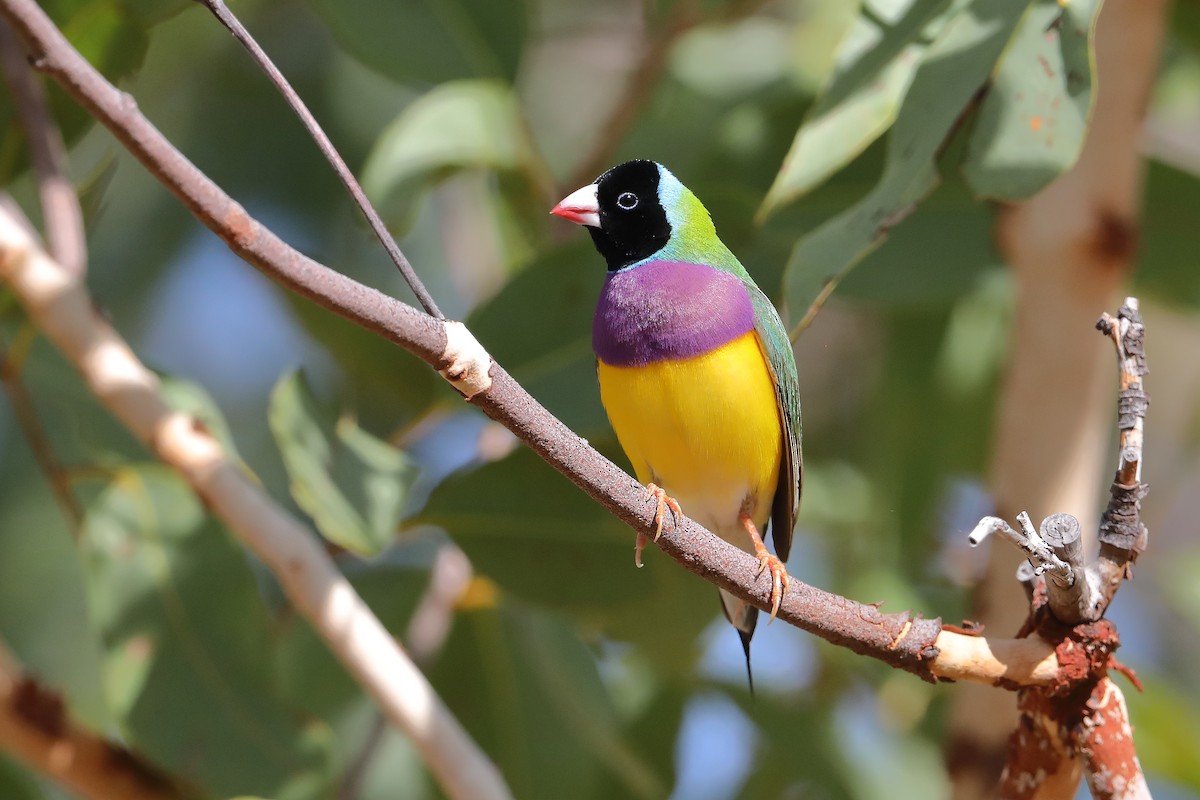
[[[85,800],[191,796],[136,754],[71,722],[62,698],[23,675],[2,646],[0,750]]]

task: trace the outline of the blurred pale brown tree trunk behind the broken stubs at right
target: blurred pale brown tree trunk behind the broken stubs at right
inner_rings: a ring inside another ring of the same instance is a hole
[[[1027,203],[1000,211],[996,237],[1016,278],[1009,371],[991,464],[997,515],[1079,517],[1085,548],[1097,529],[1111,392],[1109,350],[1090,331],[1116,305],[1138,245],[1142,120],[1168,0],[1108,0],[1097,26],[1098,94],[1076,166]],[[1020,557],[992,547],[976,619],[1007,633],[1027,603],[1013,581]],[[949,744],[954,796],[995,794],[1012,698],[959,690]],[[1043,796],[1073,796],[1072,793]]]

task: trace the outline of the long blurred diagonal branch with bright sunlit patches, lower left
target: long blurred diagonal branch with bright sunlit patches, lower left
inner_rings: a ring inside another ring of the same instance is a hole
[[[0,210],[0,281],[8,283],[100,402],[179,471],[212,513],[263,559],[330,650],[408,734],[446,794],[460,800],[510,796],[496,765],[312,531],[230,461],[194,417],[167,405],[157,377],[96,312],[80,276],[46,255],[7,210]]]

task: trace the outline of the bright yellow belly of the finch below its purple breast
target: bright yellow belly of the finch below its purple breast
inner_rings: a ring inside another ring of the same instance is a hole
[[[644,367],[599,362],[600,398],[637,479],[740,547],[738,513],[770,516],[784,432],[767,361],[751,331],[694,359]]]

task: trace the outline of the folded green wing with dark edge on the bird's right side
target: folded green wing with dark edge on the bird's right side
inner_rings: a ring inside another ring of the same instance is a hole
[[[779,486],[770,509],[770,536],[775,541],[775,553],[780,560],[786,561],[787,553],[792,549],[792,528],[796,527],[796,515],[800,509],[804,468],[804,456],[800,452],[800,385],[796,374],[792,342],[787,338],[784,320],[779,318],[779,312],[767,295],[749,277],[744,282],[754,303],[755,332],[767,350],[767,362],[775,380],[775,402],[779,403],[779,415],[784,420],[784,433],[787,437],[784,462],[779,469]]]

